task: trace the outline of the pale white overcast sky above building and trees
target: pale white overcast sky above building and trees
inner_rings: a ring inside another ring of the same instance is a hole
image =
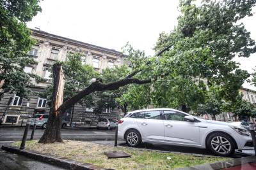
[[[28,27],[118,51],[129,41],[134,48],[153,55],[159,33],[170,32],[177,25],[178,4],[178,0],[44,0],[42,13]],[[255,21],[256,15],[243,20],[253,39]],[[256,54],[236,61],[252,73]],[[256,90],[249,83],[244,87]]]

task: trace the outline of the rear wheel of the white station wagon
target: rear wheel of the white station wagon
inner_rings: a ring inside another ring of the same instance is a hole
[[[126,144],[130,147],[136,147],[141,143],[141,135],[140,132],[136,131],[135,129],[130,129],[129,131],[125,132],[125,141]]]

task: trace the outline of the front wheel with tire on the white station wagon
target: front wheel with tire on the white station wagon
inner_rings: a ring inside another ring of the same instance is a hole
[[[227,157],[234,154],[236,144],[227,134],[216,132],[207,138],[207,148],[209,148],[214,155]]]

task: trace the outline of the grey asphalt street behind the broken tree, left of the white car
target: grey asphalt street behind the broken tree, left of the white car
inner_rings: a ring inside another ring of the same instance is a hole
[[[24,127],[0,127],[0,141],[20,141],[24,133]],[[28,139],[32,129],[29,128]],[[34,139],[39,139],[44,134],[44,129],[37,128]],[[79,141],[110,140],[115,138],[115,130],[97,129],[61,129],[63,139]]]

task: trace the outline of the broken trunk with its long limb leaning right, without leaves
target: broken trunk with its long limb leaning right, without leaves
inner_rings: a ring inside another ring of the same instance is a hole
[[[168,48],[164,48],[161,52],[157,53],[157,56],[161,55],[164,51],[168,50]],[[105,91],[105,90],[117,90],[120,87],[124,87],[125,85],[129,85],[131,83],[143,85],[146,83],[151,83],[152,81],[157,80],[157,76],[155,78],[150,78],[147,80],[140,80],[139,78],[134,78],[136,74],[143,71],[142,69],[137,69],[125,76],[118,81],[103,83],[101,80],[97,79],[92,82],[88,87],[86,87],[81,92],[77,93],[75,96],[71,97],[67,101],[63,102],[63,90],[64,90],[64,75],[61,64],[54,64],[52,66],[52,74],[54,81],[54,90],[52,92],[52,104],[51,110],[49,112],[49,119],[47,121],[47,127],[45,132],[40,138],[39,143],[54,143],[61,142],[61,115],[65,113],[65,111],[74,106],[78,101],[83,99],[83,97],[88,96],[96,91]],[[161,76],[165,76],[166,74],[161,74]]]

